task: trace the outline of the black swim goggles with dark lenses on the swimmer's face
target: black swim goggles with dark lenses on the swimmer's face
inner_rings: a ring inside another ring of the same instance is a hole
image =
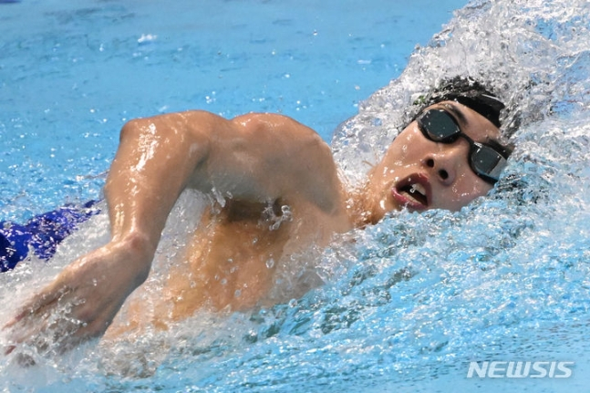
[[[418,128],[428,140],[440,143],[453,143],[459,138],[470,144],[469,164],[471,171],[484,181],[494,184],[506,166],[508,154],[502,145],[476,142],[461,131],[457,120],[443,109],[429,109],[419,115]]]

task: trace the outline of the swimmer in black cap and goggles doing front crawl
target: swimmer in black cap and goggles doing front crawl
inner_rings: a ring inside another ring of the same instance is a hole
[[[187,111],[130,120],[105,185],[109,243],[67,265],[20,308],[5,325],[13,339],[6,353],[42,333],[57,336],[63,349],[103,336],[150,274],[185,189],[225,202],[206,209],[186,262],[171,267],[148,321],[162,329],[203,308],[260,305],[274,282],[267,261],[290,263],[387,212],[457,211],[491,191],[506,165],[512,149],[501,142],[503,107],[481,84],[453,79],[422,99],[418,115],[355,189],[339,179],[326,142],[285,116]],[[64,305],[69,314],[57,315]],[[129,310],[129,320],[109,333],[143,323],[141,305]]]

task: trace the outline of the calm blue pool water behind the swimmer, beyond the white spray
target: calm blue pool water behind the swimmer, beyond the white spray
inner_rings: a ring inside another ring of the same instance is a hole
[[[281,112],[330,140],[464,0],[0,8],[0,220],[96,198],[126,119]]]

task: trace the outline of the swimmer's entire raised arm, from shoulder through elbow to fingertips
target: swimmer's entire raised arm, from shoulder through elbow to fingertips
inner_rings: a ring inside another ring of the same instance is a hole
[[[111,241],[68,265],[6,327],[14,328],[16,343],[64,326],[72,334],[57,335],[63,347],[100,336],[150,273],[160,233],[186,187],[260,201],[290,193],[329,212],[333,165],[313,131],[277,115],[227,120],[191,111],[131,120],[105,186]],[[317,172],[322,168],[328,176]],[[69,314],[47,326],[43,315],[63,305],[71,305]],[[74,320],[80,325],[71,326]]]

